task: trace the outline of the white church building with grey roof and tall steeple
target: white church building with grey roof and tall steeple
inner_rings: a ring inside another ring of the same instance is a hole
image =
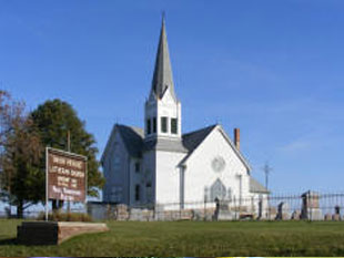
[[[253,209],[263,210],[269,190],[250,174],[240,131],[234,130],[232,141],[220,124],[185,134],[182,125],[163,21],[144,127],[114,124],[101,157],[103,202],[188,208],[216,198],[244,205],[251,198]]]

